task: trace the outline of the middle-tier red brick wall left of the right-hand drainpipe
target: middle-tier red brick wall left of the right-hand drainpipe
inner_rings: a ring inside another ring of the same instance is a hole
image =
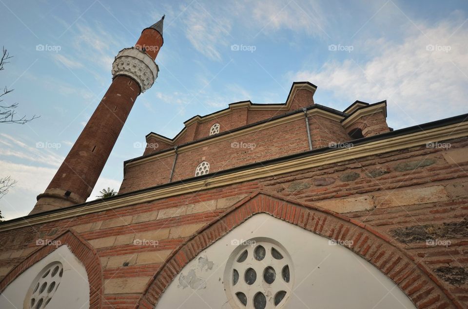
[[[210,173],[213,173],[307,150],[309,146],[305,119],[298,119],[205,147],[180,151],[173,181],[194,177],[195,168],[202,161],[210,164]],[[170,159],[128,166],[119,193],[168,182],[173,160],[174,156],[171,156]]]

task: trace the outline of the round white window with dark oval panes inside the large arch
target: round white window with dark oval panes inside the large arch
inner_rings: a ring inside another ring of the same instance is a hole
[[[257,237],[237,246],[224,270],[224,289],[235,309],[283,308],[292,293],[292,261],[271,238]]]

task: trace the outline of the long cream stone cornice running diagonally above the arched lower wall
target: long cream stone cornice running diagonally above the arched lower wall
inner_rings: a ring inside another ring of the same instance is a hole
[[[466,115],[464,115],[466,116]],[[423,126],[423,125],[422,125]],[[396,132],[396,131],[394,131]],[[394,132],[390,132],[394,134]],[[272,177],[284,173],[297,172],[325,164],[334,164],[351,159],[358,159],[377,155],[380,153],[421,146],[429,142],[443,141],[468,136],[468,121],[453,123],[450,125],[433,127],[427,130],[418,130],[413,133],[397,135],[394,137],[378,139],[361,145],[354,145],[351,148],[336,149],[332,151],[320,152],[292,158],[278,163],[262,164],[242,170],[234,170],[226,174],[220,174],[212,178],[202,177],[201,179],[187,180],[185,183],[174,183],[173,185],[147,189],[142,192],[135,192],[117,196],[109,200],[91,202],[85,205],[70,206],[58,211],[42,213],[39,216],[32,216],[13,219],[0,224],[0,231],[7,231],[21,228],[28,225],[40,224],[59,219],[73,218],[79,215],[96,213],[109,209],[125,207],[154,200],[172,197],[180,194],[197,192],[200,190],[231,185],[239,182],[246,182],[255,179]],[[209,174],[207,176],[210,176]]]

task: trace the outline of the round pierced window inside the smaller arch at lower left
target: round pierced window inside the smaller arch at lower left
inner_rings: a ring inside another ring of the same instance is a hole
[[[55,292],[59,288],[63,275],[63,265],[53,262],[42,269],[34,279],[24,299],[24,308],[46,308]]]

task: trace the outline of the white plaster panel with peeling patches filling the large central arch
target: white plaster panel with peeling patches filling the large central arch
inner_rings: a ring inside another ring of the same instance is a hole
[[[226,262],[239,242],[254,237],[272,238],[291,255],[293,291],[282,308],[415,308],[388,277],[351,250],[331,245],[329,239],[280,219],[258,214],[188,263],[162,294],[156,309],[232,308],[223,284]]]

